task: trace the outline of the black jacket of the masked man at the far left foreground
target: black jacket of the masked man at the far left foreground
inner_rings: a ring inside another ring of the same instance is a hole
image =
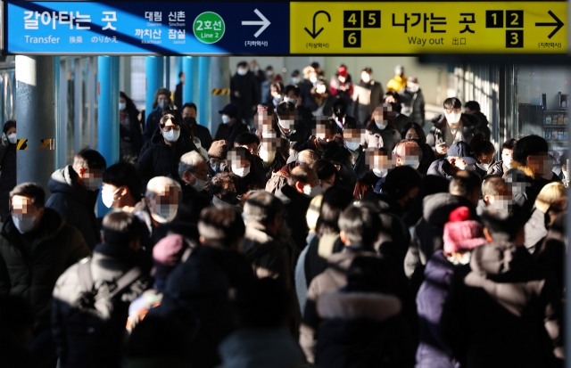
[[[16,295],[29,301],[35,332],[51,324],[52,291],[58,277],[91,254],[79,230],[67,225],[54,209],[44,209],[41,221],[37,231],[29,233],[31,241],[27,241],[8,217],[0,237],[0,295]]]

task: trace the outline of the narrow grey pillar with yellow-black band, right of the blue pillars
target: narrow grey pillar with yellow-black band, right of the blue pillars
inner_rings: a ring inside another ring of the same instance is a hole
[[[211,88],[230,87],[230,58],[226,56],[211,57]],[[220,124],[219,110],[222,110],[230,102],[228,95],[211,95],[211,120],[209,129],[211,135],[215,135]]]

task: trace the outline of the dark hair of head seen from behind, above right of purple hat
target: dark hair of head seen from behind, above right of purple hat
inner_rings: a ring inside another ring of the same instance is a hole
[[[203,209],[198,221],[198,233],[208,245],[228,248],[245,233],[244,220],[234,209],[217,209],[214,206]]]

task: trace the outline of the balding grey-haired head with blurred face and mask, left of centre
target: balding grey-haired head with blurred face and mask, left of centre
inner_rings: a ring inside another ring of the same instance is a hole
[[[177,215],[182,200],[180,185],[170,177],[155,176],[146,184],[145,201],[151,217],[158,224],[165,224]]]

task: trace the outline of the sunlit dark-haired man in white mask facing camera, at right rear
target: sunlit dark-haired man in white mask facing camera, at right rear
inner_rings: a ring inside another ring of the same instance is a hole
[[[476,117],[462,114],[462,102],[456,97],[444,100],[443,108],[443,114],[432,119],[434,127],[426,136],[426,143],[433,147],[438,159],[446,155],[452,143],[468,143],[478,124]]]

